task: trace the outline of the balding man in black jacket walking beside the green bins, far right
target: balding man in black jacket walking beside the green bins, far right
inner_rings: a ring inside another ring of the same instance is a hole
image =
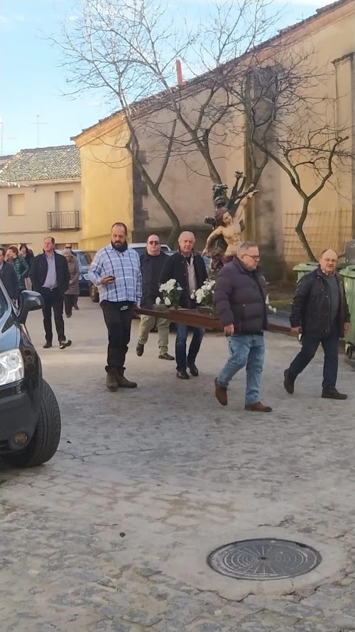
[[[315,357],[321,344],[324,350],[322,397],[346,400],[347,395],[339,393],[336,384],[339,338],[350,328],[350,314],[337,263],[337,252],[330,248],[324,250],[317,269],[305,274],[297,284],[290,323],[293,333],[302,333],[302,349],[284,373],[283,385],[289,395],[294,392],[297,375]]]

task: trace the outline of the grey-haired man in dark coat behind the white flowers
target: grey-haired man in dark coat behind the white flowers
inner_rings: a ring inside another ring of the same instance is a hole
[[[198,252],[193,250],[195,245],[195,235],[193,232],[182,232],[179,237],[179,250],[174,255],[168,257],[163,267],[160,277],[161,283],[166,283],[169,279],[176,279],[182,287],[180,294],[180,307],[194,308],[196,303],[191,299],[193,291],[199,289],[207,279],[207,270],[204,260]],[[186,342],[189,329],[192,329],[192,341],[186,356]],[[176,323],[175,357],[177,377],[180,380],[189,380],[187,368],[194,377],[199,375],[196,366],[197,353],[200,350],[204,328],[188,327]]]

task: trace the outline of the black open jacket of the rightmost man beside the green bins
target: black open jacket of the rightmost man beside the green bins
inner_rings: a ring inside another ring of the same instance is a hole
[[[338,312],[339,336],[344,336],[344,323],[350,322],[342,277],[335,272],[339,285],[340,302]],[[327,279],[318,267],[305,274],[297,284],[290,315],[291,327],[302,327],[303,333],[319,338],[329,336],[330,331],[330,291]]]

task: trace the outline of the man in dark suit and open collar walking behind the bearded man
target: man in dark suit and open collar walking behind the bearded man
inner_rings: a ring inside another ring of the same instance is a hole
[[[67,259],[55,252],[55,240],[53,237],[45,237],[43,241],[43,254],[33,259],[30,271],[33,289],[43,296],[43,325],[45,328],[44,349],[49,349],[53,344],[52,309],[55,328],[58,333],[60,349],[65,349],[72,344],[66,340],[64,333],[63,302],[64,294],[69,287],[70,274]]]

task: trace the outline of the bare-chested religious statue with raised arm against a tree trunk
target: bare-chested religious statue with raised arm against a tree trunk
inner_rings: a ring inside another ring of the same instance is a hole
[[[240,182],[242,184],[240,186]],[[241,243],[241,232],[244,230],[244,212],[248,200],[255,196],[258,191],[254,188],[253,184],[249,186],[247,191],[242,192],[244,188],[246,178],[243,173],[236,172],[236,185],[234,186],[234,196],[236,196],[236,210],[234,217],[231,214],[229,208],[226,208],[226,185],[214,186],[214,204],[217,207],[216,213],[213,218],[205,218],[204,222],[212,225],[214,230],[207,238],[206,245],[204,247],[203,255],[208,255],[212,250],[212,245],[215,245],[220,237],[223,238],[226,250],[224,257],[233,257],[236,255],[238,246]]]

